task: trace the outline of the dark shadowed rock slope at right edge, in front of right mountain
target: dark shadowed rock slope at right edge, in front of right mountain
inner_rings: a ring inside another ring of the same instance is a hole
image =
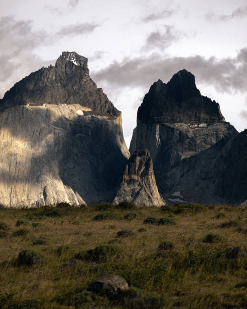
[[[247,130],[182,160],[167,188],[192,202],[239,204],[247,199]]]

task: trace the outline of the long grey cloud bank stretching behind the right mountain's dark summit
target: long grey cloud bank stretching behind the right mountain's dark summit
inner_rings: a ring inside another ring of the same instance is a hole
[[[242,48],[235,58],[217,59],[202,56],[164,58],[154,53],[148,57],[125,58],[114,61],[92,74],[94,80],[112,87],[141,87],[147,91],[159,78],[168,81],[181,69],[196,76],[199,83],[214,85],[221,92],[247,91],[247,48]]]

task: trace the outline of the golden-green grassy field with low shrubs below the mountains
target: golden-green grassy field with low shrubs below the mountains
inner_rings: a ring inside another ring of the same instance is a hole
[[[247,259],[224,255],[247,251],[246,208],[127,206],[0,209],[0,307],[247,307]],[[148,217],[165,219],[144,224]],[[130,291],[115,299],[87,291],[107,274]]]

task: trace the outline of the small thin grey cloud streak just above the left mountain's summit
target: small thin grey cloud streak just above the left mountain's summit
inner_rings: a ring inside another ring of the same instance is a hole
[[[72,35],[75,36],[90,33],[98,26],[99,25],[95,23],[73,24],[60,28],[60,30],[56,32],[56,35],[58,35],[59,38],[63,38],[65,36],[72,36]]]

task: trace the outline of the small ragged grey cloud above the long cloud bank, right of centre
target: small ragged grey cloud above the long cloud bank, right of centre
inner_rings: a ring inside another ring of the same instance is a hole
[[[164,28],[164,33],[161,33],[159,31],[151,32],[148,35],[142,49],[153,50],[157,48],[162,51],[179,39],[180,33],[175,31],[173,26],[165,25]]]

